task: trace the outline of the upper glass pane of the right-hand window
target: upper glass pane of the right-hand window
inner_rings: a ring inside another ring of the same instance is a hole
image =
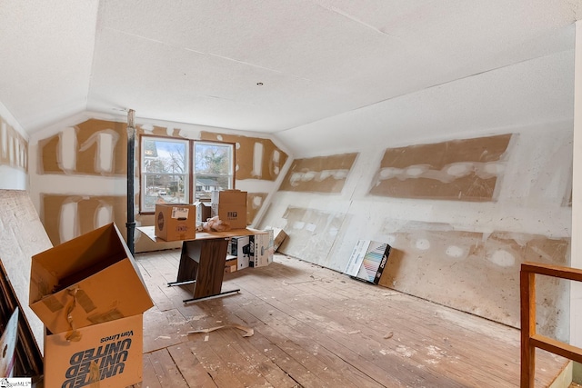
[[[195,174],[232,174],[232,145],[196,142]]]

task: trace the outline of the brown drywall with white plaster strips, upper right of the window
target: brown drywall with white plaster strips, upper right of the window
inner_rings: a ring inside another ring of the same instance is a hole
[[[236,144],[236,180],[275,181],[288,155],[270,139],[203,131],[202,140]]]

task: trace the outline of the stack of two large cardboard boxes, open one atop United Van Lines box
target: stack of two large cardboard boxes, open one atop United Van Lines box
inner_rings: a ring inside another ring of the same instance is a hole
[[[45,323],[45,387],[142,381],[154,303],[115,224],[32,257],[31,309]]]

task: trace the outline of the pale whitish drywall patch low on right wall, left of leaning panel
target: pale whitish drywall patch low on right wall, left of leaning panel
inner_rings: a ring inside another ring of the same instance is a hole
[[[279,246],[279,252],[320,264],[331,251],[346,214],[289,206],[283,218],[288,237]]]

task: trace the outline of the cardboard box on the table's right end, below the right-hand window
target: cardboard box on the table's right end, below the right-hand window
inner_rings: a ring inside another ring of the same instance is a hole
[[[246,228],[246,192],[222,190],[212,192],[212,216],[218,215],[232,229]]]

